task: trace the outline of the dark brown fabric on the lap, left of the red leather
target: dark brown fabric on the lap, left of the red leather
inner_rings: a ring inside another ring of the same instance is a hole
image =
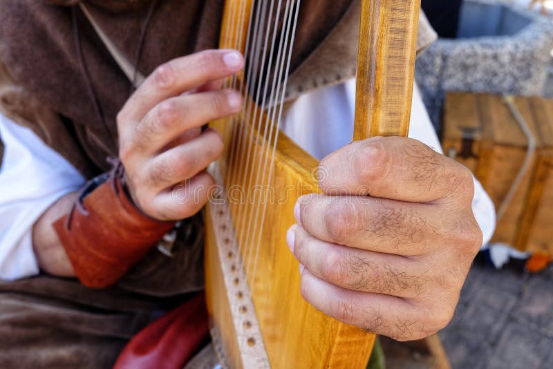
[[[111,368],[131,337],[183,300],[49,276],[0,281],[0,368]]]

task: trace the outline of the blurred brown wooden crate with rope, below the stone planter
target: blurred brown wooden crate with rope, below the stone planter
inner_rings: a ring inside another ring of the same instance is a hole
[[[492,241],[553,255],[553,100],[516,97],[514,106],[536,151]],[[499,209],[523,167],[528,140],[503,97],[449,93],[442,146],[473,171]]]

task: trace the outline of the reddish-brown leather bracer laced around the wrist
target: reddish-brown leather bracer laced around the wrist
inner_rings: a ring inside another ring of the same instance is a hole
[[[130,200],[120,162],[88,182],[69,214],[53,224],[75,275],[91,288],[118,282],[175,222],[145,215]]]

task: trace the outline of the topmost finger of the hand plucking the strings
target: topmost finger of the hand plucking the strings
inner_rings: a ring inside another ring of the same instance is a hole
[[[209,81],[229,77],[241,70],[244,58],[236,50],[206,50],[158,66],[123,106],[122,121],[141,120],[163,100]]]

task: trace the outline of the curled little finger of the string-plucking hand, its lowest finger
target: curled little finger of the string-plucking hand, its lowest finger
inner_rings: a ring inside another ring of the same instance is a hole
[[[215,182],[212,176],[203,171],[191,180],[156,196],[151,204],[151,209],[147,209],[147,214],[151,214],[159,220],[190,218],[207,204],[215,189],[214,186]]]

